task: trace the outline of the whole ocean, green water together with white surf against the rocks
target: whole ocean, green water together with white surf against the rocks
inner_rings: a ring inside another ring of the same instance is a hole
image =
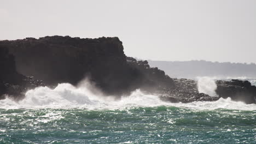
[[[0,143],[256,143],[256,104],[115,99],[61,83],[0,100]]]

